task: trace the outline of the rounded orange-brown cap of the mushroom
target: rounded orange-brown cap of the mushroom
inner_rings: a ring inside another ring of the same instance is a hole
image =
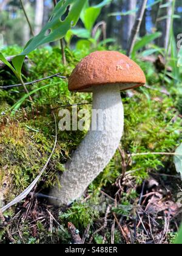
[[[96,51],[76,66],[69,78],[70,91],[92,91],[98,85],[119,84],[128,90],[146,84],[146,77],[133,60],[116,51]]]

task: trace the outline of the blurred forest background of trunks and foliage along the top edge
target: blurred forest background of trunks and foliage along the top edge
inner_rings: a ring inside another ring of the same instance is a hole
[[[90,5],[95,5],[100,0],[90,0]],[[162,36],[155,42],[162,48],[167,48],[170,34],[170,18],[172,13],[172,0],[148,0],[147,9],[141,24],[140,36],[152,34],[156,30],[162,32]],[[53,10],[52,0],[24,0],[24,7],[33,26],[33,32],[39,33],[42,26],[49,20]],[[127,47],[136,10],[140,1],[136,0],[112,0],[106,5],[97,20],[106,27],[106,37],[114,38],[123,49]],[[31,38],[30,28],[23,15],[19,0],[0,0],[0,47],[12,44],[24,46]],[[78,27],[83,27],[81,21]],[[177,0],[174,16],[175,38],[181,33],[182,27],[182,3]],[[74,43],[74,40],[73,40]]]

